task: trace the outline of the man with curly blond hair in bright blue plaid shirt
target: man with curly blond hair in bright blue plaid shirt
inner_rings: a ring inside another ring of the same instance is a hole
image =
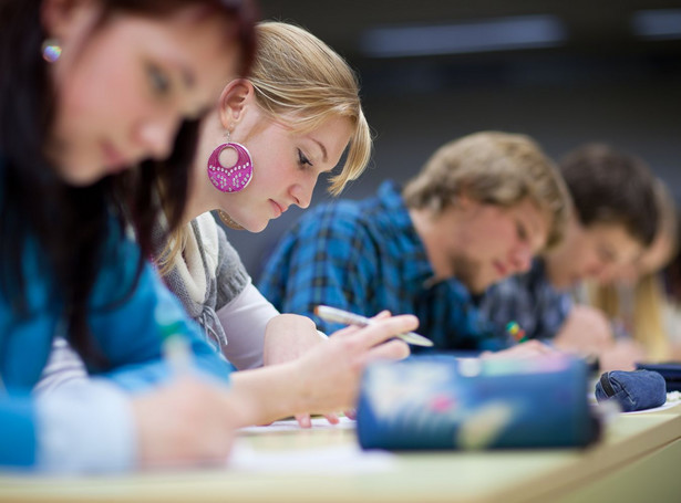
[[[404,190],[309,211],[281,240],[259,284],[281,312],[313,317],[327,304],[373,316],[415,314],[438,349],[497,349],[481,318],[493,283],[529,269],[558,242],[568,196],[528,137],[485,132],[450,142]]]

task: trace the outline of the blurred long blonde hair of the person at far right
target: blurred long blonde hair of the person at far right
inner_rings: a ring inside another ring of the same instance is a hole
[[[656,205],[658,207],[658,232],[653,240],[668,239],[671,260],[678,249],[678,219],[673,197],[657,179],[654,182]],[[660,269],[664,264],[660,264]],[[631,331],[633,339],[641,343],[652,360],[669,358],[671,346],[664,326],[665,295],[659,271],[649,271],[638,279],[633,286],[632,306],[622,306],[620,292],[615,285],[591,285],[591,304],[600,308],[610,319],[626,318],[625,325]],[[627,307],[631,310],[627,313]],[[627,323],[628,322],[628,323]]]

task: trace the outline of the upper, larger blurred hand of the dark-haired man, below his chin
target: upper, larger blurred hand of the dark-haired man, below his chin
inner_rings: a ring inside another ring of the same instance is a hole
[[[575,305],[558,335],[556,347],[581,355],[600,354],[612,346],[615,338],[606,315],[595,307]]]

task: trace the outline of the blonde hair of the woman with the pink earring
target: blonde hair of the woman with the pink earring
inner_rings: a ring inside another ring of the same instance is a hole
[[[250,75],[258,105],[274,120],[307,133],[334,117],[352,125],[341,172],[331,178],[337,196],[357,179],[371,157],[371,133],[359,97],[359,83],[348,63],[310,32],[293,24],[261,22]]]

